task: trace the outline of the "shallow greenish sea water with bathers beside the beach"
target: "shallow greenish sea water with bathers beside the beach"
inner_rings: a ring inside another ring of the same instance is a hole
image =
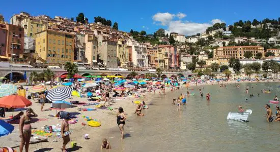
[[[264,105],[278,95],[279,83],[247,83],[227,85],[227,89],[217,85],[204,87],[201,98],[198,87],[192,87],[194,96],[187,98],[188,105],[177,111],[172,99],[186,89],[170,92],[166,96],[152,96],[145,117],[130,115],[125,125],[126,138],[119,139],[119,128],[113,128],[109,138],[113,151],[280,151],[280,122],[267,123]],[[246,86],[249,93],[245,94]],[[261,93],[266,86],[273,86],[271,94]],[[253,87],[253,88],[251,88]],[[211,94],[210,101],[206,93]],[[258,97],[260,93],[260,97]],[[245,99],[248,99],[245,101]],[[238,111],[238,105],[251,109],[253,113],[248,123],[227,120],[229,112]],[[270,104],[275,112],[275,107]],[[113,138],[115,137],[115,138]]]

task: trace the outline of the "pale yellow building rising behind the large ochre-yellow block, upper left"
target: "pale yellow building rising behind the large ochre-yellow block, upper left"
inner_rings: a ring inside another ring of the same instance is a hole
[[[46,30],[48,23],[32,17],[25,17],[21,20],[21,26],[24,27],[24,35],[36,39],[36,33]]]

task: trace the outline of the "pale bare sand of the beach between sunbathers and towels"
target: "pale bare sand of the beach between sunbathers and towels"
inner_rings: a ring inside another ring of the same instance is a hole
[[[271,82],[271,81],[270,81]],[[275,82],[275,81],[274,81]],[[230,84],[230,83],[248,83],[246,82],[236,82],[236,81],[229,81],[229,82],[223,82],[225,84]],[[217,85],[218,83],[213,83],[213,85]],[[202,85],[212,85],[211,83],[203,83],[203,84],[198,84],[198,86]],[[185,85],[181,85],[182,87],[185,87]],[[196,86],[195,83],[190,84],[189,87]],[[31,86],[25,86],[25,87],[31,87]],[[166,92],[171,91],[171,88],[166,88]],[[159,96],[159,91],[156,91],[155,96]],[[118,129],[117,122],[116,122],[116,114],[118,112],[119,107],[123,107],[125,113],[127,114],[127,119],[129,120],[131,116],[135,115],[134,110],[136,105],[134,105],[131,101],[135,100],[145,100],[145,102],[149,105],[149,98],[151,95],[154,93],[141,93],[140,98],[134,98],[134,97],[125,97],[125,98],[117,98],[115,103],[111,103],[111,107],[113,110],[109,110],[107,108],[100,109],[100,108],[95,108],[94,105],[90,106],[83,106],[83,105],[77,105],[72,108],[65,109],[65,111],[68,112],[79,112],[79,115],[77,116],[78,122],[76,124],[69,124],[70,125],[70,130],[72,133],[70,134],[70,139],[71,141],[77,142],[77,147],[71,148],[71,144],[69,143],[67,145],[68,151],[92,151],[92,149],[98,149],[97,147],[100,147],[101,141],[103,138],[107,138],[108,140],[112,138],[110,136],[110,131],[111,129]],[[145,97],[143,96],[145,95]],[[82,98],[79,97],[73,97],[73,100],[83,102],[83,103],[90,103],[92,101],[88,101],[86,94],[84,94]],[[154,96],[154,95],[153,95]],[[163,96],[163,95],[161,95]],[[179,94],[178,94],[179,96]],[[166,97],[167,98],[167,97]],[[45,111],[40,111],[41,104],[37,100],[31,99],[33,102],[31,108],[34,109],[34,111],[38,114],[38,119],[41,121],[32,123],[32,127],[36,130],[44,130],[45,125],[61,125],[62,120],[56,118],[56,117],[50,117],[49,115],[55,115],[56,110],[50,110],[51,104],[46,103],[44,106]],[[66,101],[71,101],[71,99],[68,99]],[[101,103],[104,103],[104,101],[101,101]],[[95,108],[96,110],[94,111],[79,111],[79,108]],[[153,110],[151,107],[147,110]],[[145,110],[143,110],[145,113]],[[14,115],[16,115],[18,112],[14,112]],[[12,112],[6,112],[6,116],[11,116]],[[83,126],[81,123],[87,124],[87,121],[85,121],[85,118],[82,118],[82,116],[87,116],[92,119],[96,119],[97,121],[101,122],[101,127],[90,127],[88,125]],[[149,117],[149,116],[144,116],[144,117]],[[15,126],[14,132],[18,132],[18,124],[13,124]],[[84,134],[89,134],[90,139],[85,139],[83,138]],[[8,136],[4,136],[1,138],[6,138]],[[33,137],[32,137],[33,138]],[[120,138],[120,137],[114,137],[114,138]],[[18,140],[20,138],[18,137]],[[125,142],[126,139],[123,139]],[[70,141],[70,142],[71,142]],[[11,141],[7,141],[4,146],[10,146]],[[14,144],[14,143],[13,143]],[[19,142],[18,142],[19,145]],[[48,142],[40,142],[36,144],[30,144],[30,151],[61,151],[60,148],[62,147],[62,138],[56,137],[55,133],[48,137]],[[19,147],[15,148],[17,151],[19,151]],[[114,148],[111,149],[110,151],[114,151]]]

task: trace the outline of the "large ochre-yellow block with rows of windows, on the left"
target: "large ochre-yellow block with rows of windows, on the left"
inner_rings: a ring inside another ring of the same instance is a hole
[[[36,53],[46,63],[65,64],[74,60],[74,35],[44,30],[36,33]]]

